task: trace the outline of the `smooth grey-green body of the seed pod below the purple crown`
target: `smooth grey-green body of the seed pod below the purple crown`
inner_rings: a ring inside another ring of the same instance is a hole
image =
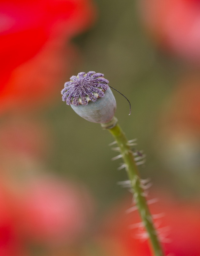
[[[110,88],[104,94],[104,97],[98,98],[95,102],[90,101],[85,106],[80,104],[71,105],[71,107],[76,114],[90,122],[108,123],[115,114],[116,100]]]

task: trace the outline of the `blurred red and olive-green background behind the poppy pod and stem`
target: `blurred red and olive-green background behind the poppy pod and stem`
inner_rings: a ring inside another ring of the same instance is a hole
[[[150,255],[110,134],[61,100],[93,70],[131,102],[166,255],[199,256],[200,1],[8,0],[0,24],[0,255]]]

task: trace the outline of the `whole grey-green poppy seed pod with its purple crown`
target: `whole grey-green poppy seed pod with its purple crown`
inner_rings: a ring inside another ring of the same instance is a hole
[[[71,105],[84,119],[94,123],[108,123],[115,114],[116,100],[101,73],[78,73],[65,83],[62,100]]]

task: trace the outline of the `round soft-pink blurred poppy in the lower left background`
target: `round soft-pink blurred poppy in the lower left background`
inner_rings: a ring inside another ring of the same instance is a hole
[[[53,177],[30,180],[20,204],[27,236],[51,246],[74,242],[86,232],[92,217],[88,191],[80,184]]]

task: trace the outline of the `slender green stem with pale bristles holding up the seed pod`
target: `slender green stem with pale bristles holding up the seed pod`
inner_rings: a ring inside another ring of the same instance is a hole
[[[159,242],[158,235],[153,224],[153,219],[148,208],[147,200],[144,196],[144,191],[138,174],[138,168],[135,163],[134,156],[132,154],[128,140],[126,139],[124,132],[118,124],[111,128],[106,127],[105,124],[102,126],[109,130],[109,132],[114,136],[116,142],[119,145],[122,158],[124,159],[124,163],[126,164],[126,171],[131,181],[132,189],[134,191],[133,196],[140,212],[142,222],[148,232],[152,255],[164,256],[164,252]]]

